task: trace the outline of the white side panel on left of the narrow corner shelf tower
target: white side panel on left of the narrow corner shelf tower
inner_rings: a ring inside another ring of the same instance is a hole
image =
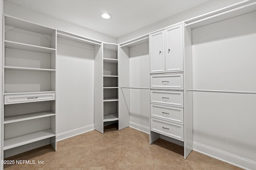
[[[94,47],[94,129],[103,133],[103,49]]]

